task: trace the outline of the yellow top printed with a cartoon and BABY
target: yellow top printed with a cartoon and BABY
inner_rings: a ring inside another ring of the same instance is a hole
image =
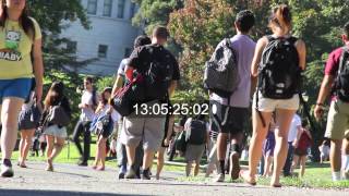
[[[41,38],[38,23],[31,17],[35,28],[35,40]],[[28,37],[19,22],[7,20],[0,27],[0,79],[33,77],[31,58],[33,39]]]

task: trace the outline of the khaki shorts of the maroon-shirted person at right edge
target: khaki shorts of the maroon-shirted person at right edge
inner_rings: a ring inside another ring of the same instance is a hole
[[[344,139],[349,136],[349,103],[336,100],[330,102],[325,137]]]

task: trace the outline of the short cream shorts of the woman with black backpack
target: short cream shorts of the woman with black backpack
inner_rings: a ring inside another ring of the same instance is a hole
[[[269,99],[263,97],[258,91],[258,110],[263,112],[273,112],[275,109],[284,110],[298,110],[299,108],[299,95],[294,94],[290,99]],[[256,107],[256,94],[253,96],[253,108]]]

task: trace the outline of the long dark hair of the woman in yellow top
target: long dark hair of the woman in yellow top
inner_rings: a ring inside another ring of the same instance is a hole
[[[5,5],[5,0],[2,2],[2,13],[0,15],[0,26],[4,27],[5,21],[9,19],[8,7]],[[35,39],[35,27],[34,22],[28,16],[27,8],[25,7],[20,16],[20,25],[24,29],[25,34],[32,39]]]

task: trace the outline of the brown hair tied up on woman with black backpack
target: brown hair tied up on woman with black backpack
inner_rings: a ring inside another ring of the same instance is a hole
[[[281,29],[291,27],[292,15],[289,7],[287,4],[279,4],[275,7],[272,11],[269,17],[269,27],[280,27]]]

